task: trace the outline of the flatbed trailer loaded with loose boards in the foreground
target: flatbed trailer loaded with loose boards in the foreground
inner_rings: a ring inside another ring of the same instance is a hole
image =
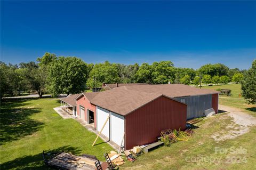
[[[98,159],[91,155],[76,156],[71,153],[44,153],[44,163],[53,168],[89,170],[95,168]]]

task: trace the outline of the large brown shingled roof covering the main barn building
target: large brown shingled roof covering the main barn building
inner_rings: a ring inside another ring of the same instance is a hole
[[[127,115],[162,95],[173,99],[181,96],[215,93],[219,92],[183,84],[134,85],[98,92],[98,94],[89,101],[96,106],[116,112],[117,114]]]

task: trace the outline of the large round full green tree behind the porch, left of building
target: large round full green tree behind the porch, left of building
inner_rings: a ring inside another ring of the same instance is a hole
[[[53,96],[80,93],[85,90],[88,70],[83,60],[60,56],[50,64],[48,71],[47,90]]]

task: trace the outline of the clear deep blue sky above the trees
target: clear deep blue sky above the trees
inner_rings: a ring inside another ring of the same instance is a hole
[[[255,1],[1,1],[1,61],[45,52],[103,61],[176,67],[256,59]]]

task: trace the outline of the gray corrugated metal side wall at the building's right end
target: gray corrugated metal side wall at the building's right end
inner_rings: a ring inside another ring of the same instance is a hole
[[[197,96],[186,96],[181,98],[174,98],[178,101],[185,103],[187,106],[187,119],[197,118],[204,116],[204,110],[212,108],[212,95],[197,95]]]

